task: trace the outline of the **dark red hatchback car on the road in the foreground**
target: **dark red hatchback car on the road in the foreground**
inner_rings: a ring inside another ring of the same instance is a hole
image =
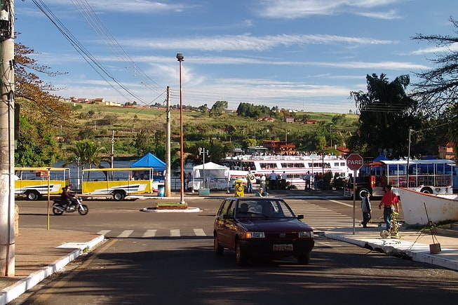
[[[226,198],[215,217],[213,250],[235,251],[239,265],[250,257],[296,257],[298,264],[309,264],[314,231],[303,218],[282,198]]]

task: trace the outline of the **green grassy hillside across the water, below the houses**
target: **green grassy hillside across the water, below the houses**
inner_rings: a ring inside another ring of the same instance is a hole
[[[76,125],[79,138],[92,137],[101,144],[111,144],[115,137],[115,155],[138,154],[135,138],[138,133],[151,135],[156,146],[164,146],[166,133],[166,108],[106,107],[83,104],[75,108],[79,114]],[[206,141],[230,144],[229,147],[245,147],[262,144],[262,140],[288,140],[302,150],[314,150],[319,139],[325,146],[344,144],[351,130],[355,130],[358,116],[303,112],[288,114],[295,121],[306,118],[309,123],[285,123],[283,114],[274,122],[257,121],[256,118],[238,116],[236,113],[209,116],[198,111],[183,111],[184,142],[186,147]],[[171,130],[173,142],[180,140],[180,111],[172,109]],[[310,123],[314,122],[314,123]],[[161,135],[161,136],[159,136]],[[319,138],[316,140],[316,138]],[[185,151],[186,151],[185,147]],[[230,151],[227,151],[230,152]]]

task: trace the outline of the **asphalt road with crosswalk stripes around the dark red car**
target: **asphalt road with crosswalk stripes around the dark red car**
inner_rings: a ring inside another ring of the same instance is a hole
[[[140,212],[152,205],[149,201],[95,201],[86,202],[86,216],[51,216],[53,229],[106,231],[108,239],[11,304],[428,304],[457,299],[455,271],[321,237],[307,266],[291,258],[239,267],[234,252],[213,255],[219,202],[189,202],[202,209],[198,213],[162,214]],[[353,224],[351,201],[288,202],[315,229]],[[19,205],[20,226],[46,226],[46,202]]]

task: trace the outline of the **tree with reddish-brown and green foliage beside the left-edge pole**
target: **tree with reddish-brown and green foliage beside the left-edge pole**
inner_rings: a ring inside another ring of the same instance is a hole
[[[18,147],[15,149],[16,163],[29,166],[49,166],[60,156],[58,127],[71,127],[72,111],[58,97],[49,92],[57,90],[48,83],[43,83],[37,73],[51,76],[58,72],[49,67],[38,65],[29,57],[34,50],[15,43],[15,95],[20,111],[20,129]],[[67,128],[72,130],[73,128]]]

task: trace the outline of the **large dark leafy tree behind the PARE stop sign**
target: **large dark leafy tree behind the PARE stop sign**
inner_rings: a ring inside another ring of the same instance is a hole
[[[409,129],[417,129],[421,124],[417,102],[405,93],[410,77],[401,75],[390,83],[385,74],[372,74],[366,80],[367,93],[350,93],[361,114],[349,148],[368,156],[377,156],[379,149],[392,149],[393,158],[407,156]]]

